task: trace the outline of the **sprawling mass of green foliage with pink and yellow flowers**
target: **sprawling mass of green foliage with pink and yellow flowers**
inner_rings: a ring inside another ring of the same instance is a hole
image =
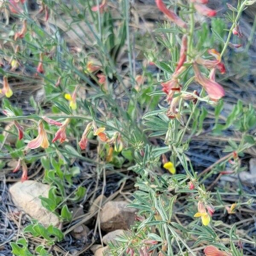
[[[230,191],[212,189],[222,175],[243,171],[241,156],[255,145],[251,105],[239,101],[221,116],[229,96],[221,83],[229,72],[226,52],[242,47],[239,19],[255,1],[227,4],[224,22],[208,7],[213,1],[155,0],[164,22],[154,30],[156,40],[149,35],[154,43],[149,46],[135,38],[128,0],[71,2],[39,1],[40,22],[28,1],[4,1],[0,7],[6,20],[0,39],[0,122],[15,137],[10,141],[3,134],[1,154],[15,161],[12,172],[22,182],[34,177],[33,164],[40,164],[44,182],[51,185],[42,203],[60,218],[64,232],[53,230],[59,236],[48,239],[52,228],[31,224],[24,233],[48,241],[48,251],[37,247],[36,252],[47,255],[72,231],[70,225],[76,227],[65,202],[90,195],[81,181],[86,174],[82,169],[93,169],[97,186],[101,175],[105,186],[106,171],[128,179],[122,175],[125,169],[137,179],[130,204],[138,210],[136,222],[129,235],[117,238],[119,244],[110,244],[108,253],[195,256],[201,250],[206,256],[243,255],[241,244],[255,241],[236,233],[233,223],[220,223],[216,212],[232,215],[241,206],[250,207],[253,195],[239,190],[233,202],[225,199]],[[12,26],[14,18],[19,22]],[[201,19],[205,21],[199,26]],[[143,60],[136,58],[137,44]],[[43,91],[42,99],[32,93],[27,108],[17,97],[26,91],[23,82],[29,93],[36,86]],[[199,171],[189,155],[192,140],[233,127],[239,143],[229,141],[228,154]],[[87,183],[89,189],[93,182]],[[36,232],[38,227],[44,232]],[[13,254],[30,255],[27,241],[21,243],[25,249],[17,244],[11,244]]]

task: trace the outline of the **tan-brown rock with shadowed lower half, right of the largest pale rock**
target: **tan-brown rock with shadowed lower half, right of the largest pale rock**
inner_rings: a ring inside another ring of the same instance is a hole
[[[109,201],[100,212],[100,227],[106,232],[129,229],[134,223],[135,208],[125,208],[125,201]]]

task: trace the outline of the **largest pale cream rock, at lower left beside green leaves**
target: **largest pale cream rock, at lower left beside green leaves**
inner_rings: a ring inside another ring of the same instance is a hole
[[[14,204],[21,208],[32,218],[38,220],[45,227],[50,224],[58,226],[58,217],[44,208],[41,204],[40,195],[48,198],[50,186],[35,180],[26,180],[23,183],[16,182],[9,188]]]

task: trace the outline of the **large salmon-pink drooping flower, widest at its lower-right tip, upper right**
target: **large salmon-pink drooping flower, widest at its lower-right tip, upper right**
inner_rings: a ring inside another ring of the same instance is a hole
[[[197,64],[193,63],[193,69],[195,72],[195,80],[198,82],[198,84],[201,84],[201,86],[204,87],[204,89],[207,91],[210,99],[218,100],[218,99],[221,99],[223,96],[225,96],[224,88],[217,82],[205,77],[200,72]]]

